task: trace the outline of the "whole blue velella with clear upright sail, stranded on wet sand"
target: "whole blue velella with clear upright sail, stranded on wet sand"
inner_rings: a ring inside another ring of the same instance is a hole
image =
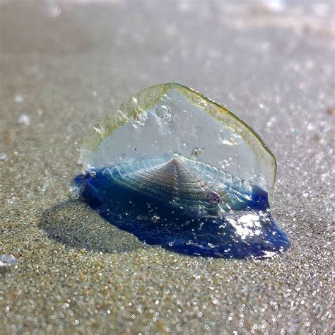
[[[143,242],[239,259],[290,247],[269,210],[274,155],[235,114],[186,86],[153,86],[122,104],[90,130],[81,162],[81,199]]]

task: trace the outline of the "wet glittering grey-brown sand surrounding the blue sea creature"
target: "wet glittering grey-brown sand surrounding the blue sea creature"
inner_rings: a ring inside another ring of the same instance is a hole
[[[0,1],[5,334],[331,334],[334,2]],[[265,260],[148,247],[69,199],[78,148],[139,90],[227,105],[276,155]]]

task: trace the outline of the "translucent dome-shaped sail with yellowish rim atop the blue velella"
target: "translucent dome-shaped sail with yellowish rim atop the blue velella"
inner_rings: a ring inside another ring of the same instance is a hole
[[[276,160],[260,137],[216,102],[176,83],[141,91],[93,127],[81,148],[85,168],[173,154],[268,190]]]

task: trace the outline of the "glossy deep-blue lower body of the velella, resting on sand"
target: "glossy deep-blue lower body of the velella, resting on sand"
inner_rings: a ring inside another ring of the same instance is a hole
[[[96,170],[94,177],[87,173],[74,179],[81,199],[105,220],[149,245],[194,256],[236,259],[264,257],[290,247],[288,237],[269,213],[263,189],[254,187],[252,198],[240,211],[197,217],[113,184],[102,171]],[[238,218],[248,214],[259,220],[240,224]]]

